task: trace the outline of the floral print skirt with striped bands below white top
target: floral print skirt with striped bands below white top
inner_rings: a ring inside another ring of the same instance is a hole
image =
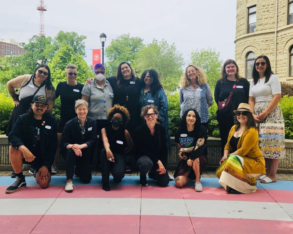
[[[263,112],[269,104],[270,101],[256,102],[255,115]],[[285,122],[279,105],[259,123],[258,133],[259,148],[264,158],[285,158]]]

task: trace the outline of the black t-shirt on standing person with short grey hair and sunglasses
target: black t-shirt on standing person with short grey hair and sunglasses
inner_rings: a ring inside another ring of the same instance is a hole
[[[76,100],[81,99],[81,90],[83,87],[84,85],[80,83],[77,83],[75,86],[70,86],[67,84],[67,81],[59,82],[57,84],[56,98],[60,96],[61,119],[69,121],[76,117],[74,105]]]

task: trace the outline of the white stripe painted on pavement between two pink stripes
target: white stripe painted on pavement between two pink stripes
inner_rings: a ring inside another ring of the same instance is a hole
[[[0,215],[39,215],[48,210],[48,215],[141,214],[186,217],[189,214],[192,217],[293,221],[293,204],[279,205],[275,202],[140,198],[57,198],[54,201],[53,198],[40,198],[0,199],[0,207]]]

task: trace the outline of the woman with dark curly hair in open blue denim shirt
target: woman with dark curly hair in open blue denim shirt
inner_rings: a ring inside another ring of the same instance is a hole
[[[164,126],[166,130],[167,147],[171,148],[168,118],[168,99],[163,86],[160,83],[159,74],[154,69],[145,70],[142,73],[142,90],[139,96],[139,107],[153,104],[158,107],[159,115],[157,123]]]

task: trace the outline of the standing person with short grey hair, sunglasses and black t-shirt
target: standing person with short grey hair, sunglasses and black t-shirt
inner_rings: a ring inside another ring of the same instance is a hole
[[[58,172],[56,167],[57,159],[60,153],[60,140],[65,124],[76,117],[74,111],[75,101],[81,99],[81,90],[84,87],[76,81],[78,76],[77,67],[74,64],[68,64],[65,68],[65,77],[67,81],[62,81],[57,84],[56,98],[60,96],[60,120],[57,125],[58,147],[55,154],[54,163],[52,165],[52,174]]]

